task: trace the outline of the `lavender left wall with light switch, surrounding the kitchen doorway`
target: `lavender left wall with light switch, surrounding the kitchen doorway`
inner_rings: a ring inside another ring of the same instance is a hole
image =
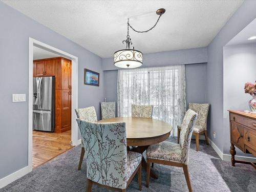
[[[13,93],[28,98],[29,37],[78,57],[78,106],[103,100],[102,59],[73,41],[0,2],[0,179],[28,165],[28,100],[12,102]],[[83,69],[101,73],[100,87],[83,84]]]

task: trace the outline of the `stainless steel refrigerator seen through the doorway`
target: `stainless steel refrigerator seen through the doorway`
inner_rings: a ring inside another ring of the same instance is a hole
[[[33,78],[33,130],[54,131],[54,77]]]

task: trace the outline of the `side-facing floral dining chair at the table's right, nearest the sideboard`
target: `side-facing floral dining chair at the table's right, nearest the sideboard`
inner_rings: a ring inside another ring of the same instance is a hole
[[[192,191],[188,174],[188,150],[196,118],[196,112],[190,109],[186,112],[181,125],[179,144],[163,141],[158,144],[150,145],[147,148],[146,187],[148,187],[150,182],[150,164],[158,163],[163,165],[183,167],[183,172],[186,178],[188,190]]]

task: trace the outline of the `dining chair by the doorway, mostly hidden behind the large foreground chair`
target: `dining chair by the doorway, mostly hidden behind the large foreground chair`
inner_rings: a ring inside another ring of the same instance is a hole
[[[83,119],[86,121],[92,121],[92,122],[96,122],[98,120],[94,106],[89,106],[89,108],[75,109],[75,112],[76,112],[77,118],[79,118],[79,119]],[[81,169],[83,156],[84,156],[84,144],[82,141],[81,142],[81,155],[80,155],[80,160],[79,160],[79,164],[78,164],[78,170]]]

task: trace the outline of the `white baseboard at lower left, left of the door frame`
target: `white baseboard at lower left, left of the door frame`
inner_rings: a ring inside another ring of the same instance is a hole
[[[21,168],[19,170],[17,170],[16,172],[0,179],[0,188],[3,188],[4,186],[10,184],[11,182],[15,181],[16,179],[25,176],[26,174],[28,174],[29,171],[29,166],[26,166],[24,168]]]

